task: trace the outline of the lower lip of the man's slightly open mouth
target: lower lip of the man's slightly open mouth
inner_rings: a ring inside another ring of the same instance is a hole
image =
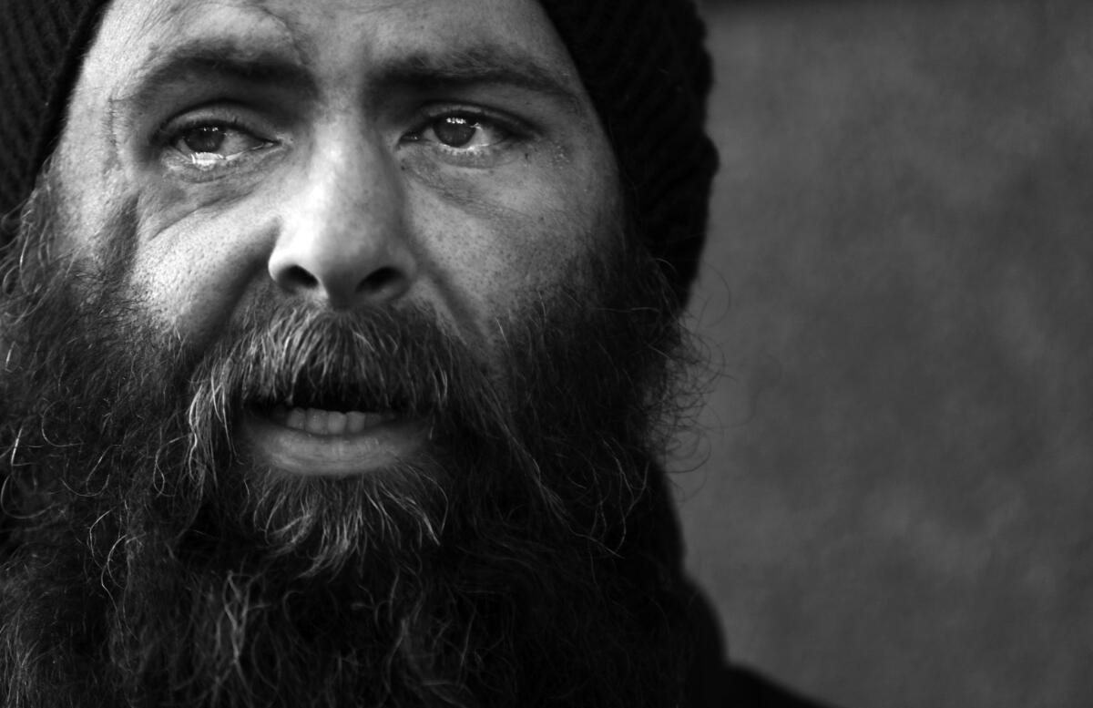
[[[381,418],[356,433],[316,435],[248,411],[243,438],[255,462],[301,476],[356,476],[411,457],[426,437],[424,425]]]

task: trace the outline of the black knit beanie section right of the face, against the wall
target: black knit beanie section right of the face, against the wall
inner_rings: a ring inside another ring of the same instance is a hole
[[[541,0],[600,114],[640,236],[680,303],[697,273],[717,153],[712,83],[690,0]]]

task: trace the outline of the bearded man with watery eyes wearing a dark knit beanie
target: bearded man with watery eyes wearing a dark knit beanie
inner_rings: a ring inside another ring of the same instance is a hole
[[[659,467],[690,3],[2,7],[4,705],[790,700]]]

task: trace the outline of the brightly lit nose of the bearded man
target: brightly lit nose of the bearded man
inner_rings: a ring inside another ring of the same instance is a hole
[[[289,184],[269,272],[285,292],[336,309],[401,297],[416,276],[400,170],[379,141],[333,130]],[[292,191],[296,191],[292,194]]]

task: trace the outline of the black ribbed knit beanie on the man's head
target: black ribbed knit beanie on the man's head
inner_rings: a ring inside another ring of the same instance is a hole
[[[638,231],[686,302],[717,166],[694,0],[540,0],[599,111]],[[30,196],[106,0],[0,0],[0,216]],[[2,236],[10,237],[10,234]]]

